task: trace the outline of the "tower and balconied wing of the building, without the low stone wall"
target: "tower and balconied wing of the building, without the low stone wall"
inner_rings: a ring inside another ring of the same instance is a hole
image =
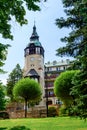
[[[44,64],[44,48],[39,41],[36,26],[33,26],[33,33],[30,42],[24,49],[24,77],[34,78],[42,86],[42,100],[40,106],[55,105],[59,100],[53,92],[55,78],[65,71],[69,66],[69,60],[53,61]]]

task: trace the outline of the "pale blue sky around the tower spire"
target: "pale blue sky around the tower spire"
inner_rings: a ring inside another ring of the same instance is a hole
[[[6,74],[0,74],[0,80],[5,84],[8,75],[15,68],[17,64],[20,64],[21,68],[24,67],[24,48],[30,41],[30,36],[33,31],[34,21],[39,35],[39,41],[45,50],[45,63],[48,61],[61,60],[60,57],[56,56],[56,49],[64,46],[64,43],[60,41],[60,38],[64,37],[69,33],[68,29],[59,29],[55,20],[60,17],[65,17],[62,0],[48,0],[45,3],[41,3],[41,11],[28,11],[26,18],[28,24],[19,26],[14,20],[12,24],[12,34],[14,40],[3,39],[0,35],[0,42],[4,44],[10,44],[11,47],[8,49],[7,60],[3,69],[7,71]],[[62,59],[65,59],[63,57]]]

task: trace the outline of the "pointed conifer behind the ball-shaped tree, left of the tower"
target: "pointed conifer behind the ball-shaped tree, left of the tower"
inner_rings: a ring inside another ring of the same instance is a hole
[[[19,64],[16,65],[16,67],[12,70],[12,72],[9,74],[9,78],[7,79],[7,95],[11,98],[11,101],[13,101],[13,87],[18,80],[20,80],[23,77],[23,72]]]

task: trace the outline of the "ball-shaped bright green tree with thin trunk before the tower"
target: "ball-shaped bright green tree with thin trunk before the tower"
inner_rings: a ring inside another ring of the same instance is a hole
[[[33,79],[23,78],[19,80],[14,88],[13,95],[16,99],[25,101],[25,118],[27,117],[27,103],[39,101],[41,98],[41,88],[38,82]]]

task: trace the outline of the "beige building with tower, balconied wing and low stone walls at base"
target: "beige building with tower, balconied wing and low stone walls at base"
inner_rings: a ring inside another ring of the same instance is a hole
[[[46,117],[48,116],[48,106],[60,104],[60,100],[55,96],[53,88],[56,77],[65,71],[70,61],[53,61],[44,64],[44,48],[39,41],[36,26],[33,26],[33,32],[28,45],[24,49],[24,70],[23,76],[35,79],[41,84],[42,97],[39,104],[28,111],[27,117]],[[7,106],[10,118],[24,117],[24,104],[13,102]]]

